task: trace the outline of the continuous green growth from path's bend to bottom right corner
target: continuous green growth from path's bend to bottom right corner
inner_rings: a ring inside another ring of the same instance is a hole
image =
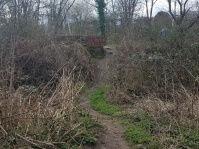
[[[96,111],[120,117],[125,126],[124,137],[134,149],[166,149],[176,146],[177,149],[199,149],[199,132],[197,128],[175,123],[169,126],[167,120],[154,118],[149,114],[122,115],[120,106],[111,105],[107,100],[110,87],[101,87],[90,96],[91,106]],[[89,139],[92,142],[92,139]]]

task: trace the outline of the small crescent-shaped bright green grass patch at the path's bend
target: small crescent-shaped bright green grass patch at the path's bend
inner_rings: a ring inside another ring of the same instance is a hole
[[[109,87],[101,87],[97,91],[93,92],[90,97],[91,106],[102,114],[115,117],[121,116],[121,108],[116,105],[110,105],[110,103],[105,100],[106,92],[109,90]]]

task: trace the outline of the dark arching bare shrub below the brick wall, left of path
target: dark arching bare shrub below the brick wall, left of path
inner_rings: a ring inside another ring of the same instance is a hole
[[[86,49],[78,43],[57,43],[50,39],[42,40],[24,39],[18,42],[16,57],[16,73],[18,82],[16,86],[34,85],[48,82],[53,75],[63,66],[67,66],[68,71],[74,67],[76,77],[81,76],[85,80],[93,79],[94,67],[90,61]],[[26,76],[26,79],[23,77]],[[55,77],[56,78],[56,77]],[[16,79],[17,80],[17,79]]]

